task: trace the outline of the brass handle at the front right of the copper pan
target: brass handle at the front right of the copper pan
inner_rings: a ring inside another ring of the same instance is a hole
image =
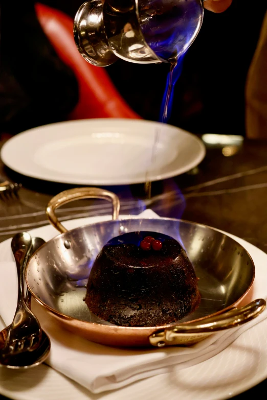
[[[256,318],[266,307],[266,301],[257,299],[241,308],[234,308],[225,313],[171,326],[149,336],[153,346],[189,345],[196,343],[213,332],[229,329]]]

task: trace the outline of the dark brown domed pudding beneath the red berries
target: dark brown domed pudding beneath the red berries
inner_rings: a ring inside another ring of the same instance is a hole
[[[140,247],[147,237],[160,251]],[[200,301],[197,279],[186,252],[156,232],[124,233],[109,241],[91,270],[85,302],[104,319],[123,326],[155,326],[184,318]]]

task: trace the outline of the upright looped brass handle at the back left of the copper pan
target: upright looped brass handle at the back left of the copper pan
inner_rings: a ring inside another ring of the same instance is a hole
[[[51,225],[53,225],[60,233],[68,231],[58,220],[55,210],[66,203],[74,200],[82,199],[103,199],[112,203],[113,214],[112,219],[117,220],[120,212],[120,201],[118,196],[112,192],[98,187],[76,187],[75,189],[65,190],[53,197],[47,205],[47,217]]]

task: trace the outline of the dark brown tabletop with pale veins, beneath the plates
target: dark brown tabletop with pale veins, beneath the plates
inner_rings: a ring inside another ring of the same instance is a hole
[[[267,252],[267,141],[244,139],[236,145],[229,137],[229,143],[206,147],[206,157],[198,167],[152,183],[150,199],[143,184],[106,189],[120,197],[121,214],[139,214],[151,208],[162,217],[183,218],[230,232]],[[1,161],[0,176],[23,184],[19,200],[0,203],[0,242],[18,231],[46,225],[48,201],[73,187],[21,176]],[[83,200],[62,207],[59,215],[66,220],[110,211],[105,202]],[[265,400],[266,389],[267,380],[234,398]]]

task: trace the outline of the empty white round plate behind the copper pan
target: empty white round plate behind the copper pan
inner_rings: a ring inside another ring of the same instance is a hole
[[[4,144],[1,158],[32,178],[102,186],[180,175],[196,167],[205,152],[201,139],[172,125],[111,118],[21,132]]]

